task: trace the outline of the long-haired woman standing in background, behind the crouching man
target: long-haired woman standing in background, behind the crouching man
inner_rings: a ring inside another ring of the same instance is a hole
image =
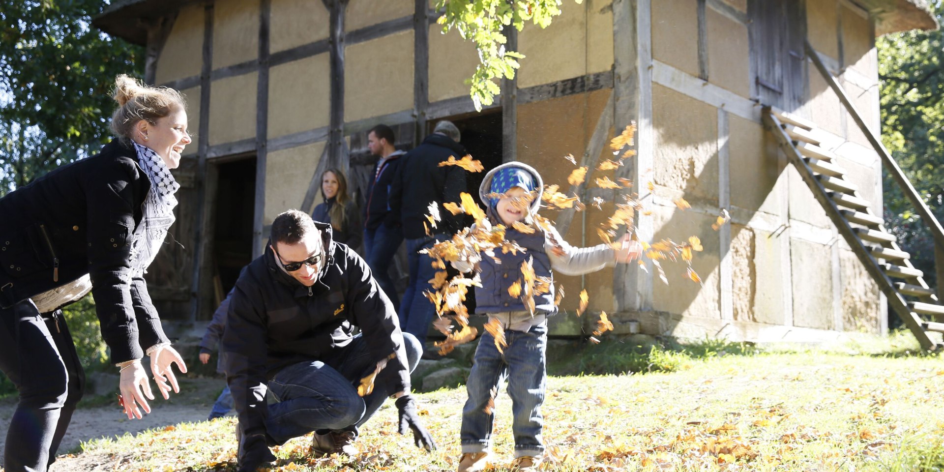
[[[357,250],[363,240],[361,212],[347,194],[347,179],[341,171],[328,169],[321,173],[321,197],[325,201],[314,207],[312,220],[329,223],[335,242]]]

